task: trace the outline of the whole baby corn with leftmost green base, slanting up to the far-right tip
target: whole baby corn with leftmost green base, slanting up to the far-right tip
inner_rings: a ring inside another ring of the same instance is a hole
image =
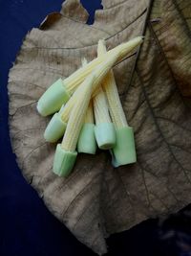
[[[142,36],[138,36],[128,42],[122,43],[103,56],[95,58],[86,66],[79,68],[64,81],[61,79],[55,81],[39,99],[37,104],[38,112],[42,116],[47,116],[58,111],[61,105],[69,100],[76,87],[84,81],[97,65],[106,58],[116,54],[118,54],[117,60],[125,58],[142,42],[142,38]]]

